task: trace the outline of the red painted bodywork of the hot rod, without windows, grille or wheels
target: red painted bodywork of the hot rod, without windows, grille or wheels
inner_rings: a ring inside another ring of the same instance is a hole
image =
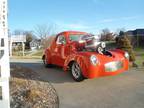
[[[85,32],[66,31],[58,34],[53,40],[52,44],[45,50],[45,57],[48,64],[55,64],[64,68],[65,71],[69,69],[69,66],[73,62],[77,62],[81,68],[82,75],[86,78],[96,78],[101,76],[116,75],[128,70],[129,60],[125,58],[124,51],[111,50],[109,51],[112,56],[106,56],[97,52],[91,51],[78,51],[78,48],[82,48],[83,44],[77,42],[71,42],[69,39],[70,34],[87,34]],[[65,37],[65,44],[58,44],[58,37]],[[98,64],[95,66],[91,63],[90,57],[95,55],[98,59]],[[121,61],[123,67],[113,71],[106,72],[105,64]]]

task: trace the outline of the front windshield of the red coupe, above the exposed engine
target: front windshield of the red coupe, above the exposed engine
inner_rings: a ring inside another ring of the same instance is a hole
[[[80,41],[80,40],[86,40],[88,38],[92,38],[93,35],[90,34],[70,34],[69,39],[70,41]]]

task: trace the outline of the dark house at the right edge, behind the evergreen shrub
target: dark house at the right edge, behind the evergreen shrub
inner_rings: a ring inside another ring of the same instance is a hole
[[[126,33],[134,47],[144,46],[144,29],[129,30]]]

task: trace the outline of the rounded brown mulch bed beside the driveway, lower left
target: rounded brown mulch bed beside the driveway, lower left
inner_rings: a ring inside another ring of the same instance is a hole
[[[11,65],[11,108],[58,108],[59,100],[53,86],[39,79],[38,73]]]

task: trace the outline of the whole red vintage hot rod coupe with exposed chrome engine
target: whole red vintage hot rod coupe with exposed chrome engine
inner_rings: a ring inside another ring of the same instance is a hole
[[[53,39],[42,59],[46,67],[58,65],[71,72],[76,81],[128,70],[128,53],[119,49],[106,50],[105,47],[105,43],[92,34],[66,31]]]

